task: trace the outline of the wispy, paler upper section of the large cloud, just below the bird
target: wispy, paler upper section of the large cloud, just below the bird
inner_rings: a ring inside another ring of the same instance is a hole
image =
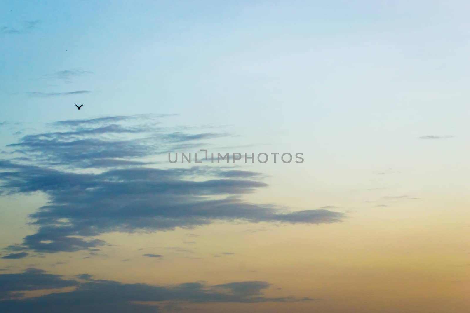
[[[48,165],[111,168],[155,164],[135,158],[168,153],[174,147],[188,145],[188,142],[196,139],[225,136],[217,133],[168,132],[166,129],[157,128],[155,121],[133,126],[117,124],[119,121],[132,122],[133,118],[138,117],[115,116],[93,120],[59,121],[53,125],[72,129],[26,135],[20,139],[20,142],[8,147],[15,148],[15,152],[23,154],[25,158],[31,157],[31,161],[36,164],[47,160]],[[80,124],[82,125],[79,126]],[[110,135],[115,138],[110,139]],[[117,137],[118,135],[121,137]],[[131,135],[133,138],[129,138]],[[129,160],[130,158],[134,160]]]

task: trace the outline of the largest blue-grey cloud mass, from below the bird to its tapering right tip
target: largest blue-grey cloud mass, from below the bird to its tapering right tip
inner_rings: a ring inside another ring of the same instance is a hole
[[[191,229],[216,221],[319,224],[342,220],[342,213],[327,209],[290,212],[243,201],[243,194],[267,186],[256,172],[210,166],[143,167],[151,163],[136,158],[226,135],[163,131],[149,123],[153,118],[60,121],[53,125],[68,130],[27,135],[9,145],[23,157],[0,160],[3,193],[39,191],[49,198],[46,206],[30,215],[31,224],[38,227],[36,233],[26,236],[18,248],[74,252],[106,244],[94,238],[103,233]],[[94,171],[73,171],[77,168]]]

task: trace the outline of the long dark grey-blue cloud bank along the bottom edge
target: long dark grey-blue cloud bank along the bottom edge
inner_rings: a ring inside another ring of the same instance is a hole
[[[155,286],[142,283],[125,284],[115,281],[94,280],[91,275],[77,275],[81,280],[65,280],[60,275],[30,268],[20,274],[0,274],[0,311],[30,313],[91,312],[157,312],[157,306],[133,302],[173,303],[262,303],[298,302],[311,298],[267,298],[263,290],[268,282],[229,282],[214,286],[201,282],[188,282],[175,286]],[[85,282],[83,282],[85,281]],[[50,293],[36,298],[20,298],[24,291],[62,289],[75,290]],[[54,304],[54,305],[51,305]],[[153,310],[153,311],[152,311]]]

